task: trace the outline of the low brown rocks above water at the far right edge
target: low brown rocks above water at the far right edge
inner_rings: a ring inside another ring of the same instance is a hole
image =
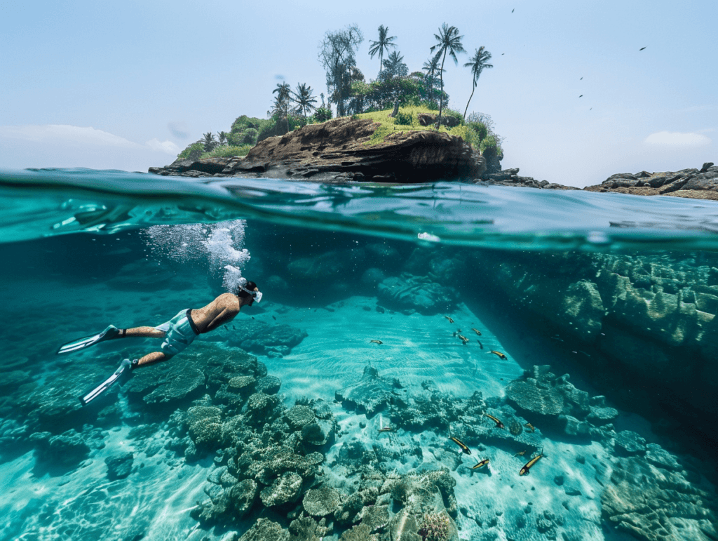
[[[608,177],[600,185],[588,186],[584,190],[718,200],[718,167],[715,167],[712,162],[707,162],[700,170],[617,173]]]

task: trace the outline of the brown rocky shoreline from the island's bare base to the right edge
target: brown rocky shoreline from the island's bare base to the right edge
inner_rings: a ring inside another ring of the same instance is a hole
[[[348,117],[310,124],[256,144],[245,157],[177,159],[149,172],[180,177],[250,177],[318,182],[432,182],[464,180],[479,185],[580,190],[500,170],[500,159],[482,155],[461,137],[437,131],[399,131],[370,144],[378,124]],[[718,167],[673,172],[617,173],[583,190],[597,193],[672,195],[718,200]]]

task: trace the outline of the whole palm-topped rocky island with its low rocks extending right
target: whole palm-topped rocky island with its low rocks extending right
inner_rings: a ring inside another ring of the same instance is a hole
[[[434,36],[432,56],[421,70],[409,73],[396,49],[396,37],[378,28],[370,41],[371,57],[380,70],[368,83],[357,68],[356,52],[363,34],[355,25],[327,32],[320,42],[319,60],[326,70],[328,96],[321,103],[307,83],[292,89],[278,83],[267,119],[246,115],[230,131],[208,132],[188,145],[172,164],[150,167],[157,175],[184,177],[254,177],[315,182],[416,183],[460,180],[481,185],[578,190],[519,176],[519,169],[502,170],[503,138],[491,116],[472,112],[471,99],[483,70],[493,68],[485,47],[464,64],[472,74],[472,93],[465,110],[445,106],[444,63],[466,52],[456,27],[443,24]],[[387,53],[386,60],[383,59]],[[333,118],[332,104],[336,118]],[[676,172],[617,173],[597,193],[672,195],[718,200],[718,167]]]

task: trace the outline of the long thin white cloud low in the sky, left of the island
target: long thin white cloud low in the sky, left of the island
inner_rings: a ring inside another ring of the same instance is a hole
[[[91,126],[69,124],[27,124],[24,126],[0,126],[0,137],[20,139],[50,145],[62,144],[71,147],[105,147],[115,149],[151,149],[164,154],[177,154],[180,147],[172,141],[150,139],[139,144]]]

